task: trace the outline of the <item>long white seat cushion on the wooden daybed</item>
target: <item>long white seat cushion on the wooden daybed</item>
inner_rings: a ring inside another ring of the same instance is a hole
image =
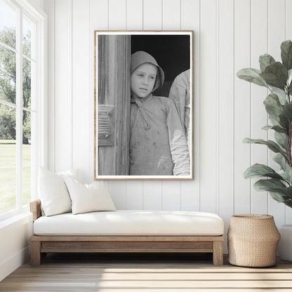
[[[43,216],[34,221],[35,235],[202,235],[224,233],[216,214],[192,211],[118,210]]]

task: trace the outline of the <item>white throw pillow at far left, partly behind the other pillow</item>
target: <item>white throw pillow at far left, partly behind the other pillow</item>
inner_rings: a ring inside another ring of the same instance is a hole
[[[44,168],[39,170],[39,199],[46,216],[71,212],[65,177],[79,180],[79,170],[70,169],[62,173],[52,173]]]

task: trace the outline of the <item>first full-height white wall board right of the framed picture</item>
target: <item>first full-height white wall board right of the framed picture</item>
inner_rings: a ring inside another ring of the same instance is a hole
[[[200,211],[216,212],[218,60],[215,0],[201,1],[200,17]]]

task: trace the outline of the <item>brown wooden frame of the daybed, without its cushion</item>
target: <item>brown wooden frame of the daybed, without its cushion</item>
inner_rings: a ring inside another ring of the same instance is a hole
[[[33,220],[41,217],[41,201],[32,201]],[[220,236],[39,236],[30,237],[31,265],[41,265],[46,253],[213,253],[213,265],[223,265]]]

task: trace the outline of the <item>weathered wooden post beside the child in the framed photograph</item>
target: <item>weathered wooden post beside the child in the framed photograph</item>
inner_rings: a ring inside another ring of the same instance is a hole
[[[114,125],[112,145],[96,145],[98,147],[98,175],[128,175],[131,36],[100,35],[97,37],[98,105],[113,107]],[[98,114],[96,108],[95,114]]]

